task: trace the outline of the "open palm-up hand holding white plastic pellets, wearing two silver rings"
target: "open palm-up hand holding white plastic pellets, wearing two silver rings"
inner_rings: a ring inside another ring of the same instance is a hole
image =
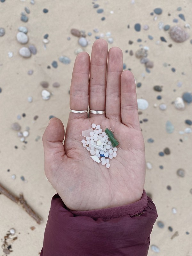
[[[108,60],[108,65],[107,65]],[[98,39],[77,55],[70,87],[70,109],[105,110],[106,114],[69,113],[66,133],[60,119],[51,118],[43,135],[47,179],[64,204],[74,211],[122,206],[139,201],[145,183],[145,147],[140,129],[135,80],[123,71],[118,47]],[[107,78],[106,78],[107,72]],[[90,78],[89,78],[90,76]],[[107,169],[83,148],[82,131],[91,124],[111,130],[119,142]],[[65,140],[64,140],[65,134]],[[64,144],[62,141],[64,140]]]

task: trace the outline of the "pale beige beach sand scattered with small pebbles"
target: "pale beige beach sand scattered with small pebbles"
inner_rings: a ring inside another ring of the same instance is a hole
[[[190,127],[185,124],[185,120],[192,117],[192,103],[185,103],[184,110],[176,109],[173,104],[184,92],[192,91],[191,36],[183,43],[175,43],[168,31],[158,28],[160,21],[171,27],[179,25],[184,28],[185,24],[192,25],[192,4],[190,1],[179,0],[106,0],[95,3],[104,9],[103,13],[97,13],[92,1],[85,0],[41,0],[36,1],[34,5],[30,4],[29,0],[0,2],[0,27],[6,31],[5,35],[0,37],[0,183],[16,196],[23,193],[28,204],[43,218],[43,223],[38,225],[17,204],[0,195],[1,245],[7,231],[15,228],[18,238],[12,243],[13,252],[10,255],[31,256],[38,255],[41,251],[51,198],[56,193],[44,174],[42,135],[50,115],[60,118],[65,127],[67,124],[68,91],[76,58],[74,51],[80,47],[78,38],[71,35],[70,30],[77,28],[85,30],[86,34],[92,32],[92,36],[86,37],[89,41],[88,46],[83,48],[89,54],[95,36],[103,34],[103,38],[107,40],[106,33],[111,33],[113,43],[108,44],[108,47],[118,46],[122,49],[126,68],[131,68],[136,83],[142,84],[137,88],[138,99],[146,99],[149,103],[149,107],[142,110],[140,115],[140,120],[148,119],[148,122],[141,124],[141,128],[145,139],[146,161],[153,166],[151,170],[146,170],[144,188],[152,195],[158,212],[157,221],[163,221],[164,228],[159,228],[156,221],[151,233],[148,255],[156,254],[151,250],[151,245],[158,246],[159,255],[192,255],[192,194],[189,192],[192,188],[192,134],[179,134]],[[20,20],[20,13],[24,11],[25,6],[30,9],[27,23]],[[182,7],[180,12],[177,11],[179,6]],[[162,8],[162,14],[150,15],[156,7]],[[44,8],[49,12],[44,13]],[[178,17],[179,13],[184,14],[186,21]],[[102,17],[106,19],[101,20]],[[178,23],[172,21],[174,18],[178,19]],[[140,32],[134,30],[135,23],[141,24]],[[143,29],[145,24],[148,24],[148,30]],[[128,25],[130,28],[127,28]],[[33,44],[37,48],[37,54],[29,59],[22,58],[18,53],[22,47],[16,40],[19,26],[28,28],[27,45]],[[94,28],[98,28],[99,32],[95,33]],[[191,35],[191,28],[185,29]],[[49,34],[50,42],[46,44],[45,49],[42,40],[46,33]],[[153,40],[149,40],[148,35],[153,36]],[[160,36],[164,36],[167,42],[162,42]],[[67,40],[67,37],[71,39]],[[137,42],[138,38],[142,39],[142,42]],[[129,40],[133,43],[129,44]],[[169,44],[172,44],[172,47],[169,47]],[[135,57],[140,45],[149,47],[148,58],[154,62],[154,67],[149,69],[150,73],[146,72],[144,64]],[[132,50],[134,55],[130,56],[126,50]],[[12,58],[8,56],[8,52],[13,52]],[[71,63],[61,63],[58,60],[60,56],[69,57]],[[58,62],[58,68],[51,66],[54,60]],[[164,67],[164,63],[167,63],[167,67]],[[48,69],[47,66],[51,68]],[[172,72],[171,68],[175,68],[176,71]],[[28,75],[30,69],[34,70],[31,76]],[[50,100],[43,100],[41,97],[42,81],[49,83],[47,90],[52,93]],[[52,87],[54,82],[59,82],[60,87]],[[180,87],[177,85],[178,82],[182,84]],[[155,92],[154,85],[161,85],[163,91]],[[157,100],[157,95],[161,95],[162,99]],[[29,96],[33,98],[31,103],[28,102]],[[166,104],[165,111],[159,109],[161,103]],[[154,104],[157,107],[154,107]],[[26,116],[18,120],[17,116],[22,116],[23,113]],[[39,117],[35,121],[36,115]],[[165,130],[168,120],[174,125],[174,132],[171,134]],[[27,126],[30,128],[29,136],[26,138],[27,144],[21,142],[17,132],[11,129],[14,122],[21,125],[22,131],[26,130]],[[37,136],[40,136],[40,139],[36,141]],[[154,142],[148,143],[149,138],[153,138]],[[170,148],[171,154],[159,156],[158,153],[166,147]],[[160,165],[164,168],[160,169]],[[185,170],[185,177],[177,176],[176,171],[179,168]],[[12,179],[13,174],[16,175],[15,180]],[[20,179],[21,176],[24,176],[24,181]],[[167,189],[168,185],[171,186],[171,190]],[[172,213],[172,208],[176,208],[176,214]],[[30,227],[33,226],[35,229],[31,230]],[[168,230],[169,226],[173,228],[172,232]],[[172,239],[176,231],[178,236]]]

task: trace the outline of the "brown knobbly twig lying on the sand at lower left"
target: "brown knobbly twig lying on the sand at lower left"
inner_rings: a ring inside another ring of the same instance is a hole
[[[38,224],[42,222],[42,219],[31,209],[31,207],[27,204],[25,201],[23,194],[20,194],[20,197],[14,196],[10,191],[8,191],[6,188],[4,188],[0,184],[0,193],[4,194],[7,196],[9,199],[11,199],[13,202],[16,204],[19,204],[20,206],[25,209],[25,211],[33,218],[36,220]]]

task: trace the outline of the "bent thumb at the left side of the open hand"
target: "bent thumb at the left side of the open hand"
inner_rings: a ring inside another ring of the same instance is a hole
[[[64,156],[65,151],[62,142],[64,136],[65,129],[61,120],[56,117],[51,118],[42,137],[45,165],[49,165]]]

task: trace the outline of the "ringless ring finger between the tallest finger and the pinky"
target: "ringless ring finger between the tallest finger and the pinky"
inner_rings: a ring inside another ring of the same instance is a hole
[[[123,53],[118,47],[108,52],[106,117],[121,121],[121,73],[123,72]]]

